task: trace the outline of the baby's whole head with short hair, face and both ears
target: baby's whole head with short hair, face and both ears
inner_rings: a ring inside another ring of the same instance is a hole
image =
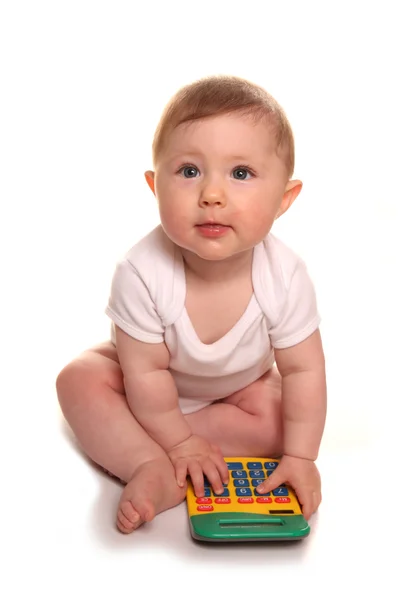
[[[214,76],[180,89],[153,142],[161,224],[183,255],[223,260],[261,242],[292,204],[294,139],[276,100],[244,79]]]

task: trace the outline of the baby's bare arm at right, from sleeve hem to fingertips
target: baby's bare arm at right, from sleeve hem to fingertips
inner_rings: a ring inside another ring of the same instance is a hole
[[[303,342],[275,350],[282,377],[283,457],[278,469],[262,486],[268,492],[290,483],[306,519],[321,501],[317,458],[326,419],[326,375],[319,330]]]

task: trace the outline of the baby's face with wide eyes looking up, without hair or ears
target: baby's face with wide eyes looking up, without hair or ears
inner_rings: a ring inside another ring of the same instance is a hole
[[[206,260],[250,251],[263,240],[286,185],[269,125],[239,114],[177,127],[155,172],[166,234]]]

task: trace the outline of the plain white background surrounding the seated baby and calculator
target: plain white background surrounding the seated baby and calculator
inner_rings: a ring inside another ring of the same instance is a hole
[[[2,597],[413,597],[412,11],[0,3]],[[184,505],[117,533],[121,488],[76,449],[55,395],[108,337],[115,262],[158,222],[143,173],[160,112],[216,73],[275,95],[304,182],[274,233],[314,277],[329,413],[324,501],[294,546],[195,544]]]

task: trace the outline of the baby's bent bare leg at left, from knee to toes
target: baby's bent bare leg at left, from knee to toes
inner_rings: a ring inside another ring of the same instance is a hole
[[[117,525],[130,533],[156,513],[179,504],[173,466],[131,413],[112,344],[83,353],[59,374],[62,411],[88,456],[126,482]]]

